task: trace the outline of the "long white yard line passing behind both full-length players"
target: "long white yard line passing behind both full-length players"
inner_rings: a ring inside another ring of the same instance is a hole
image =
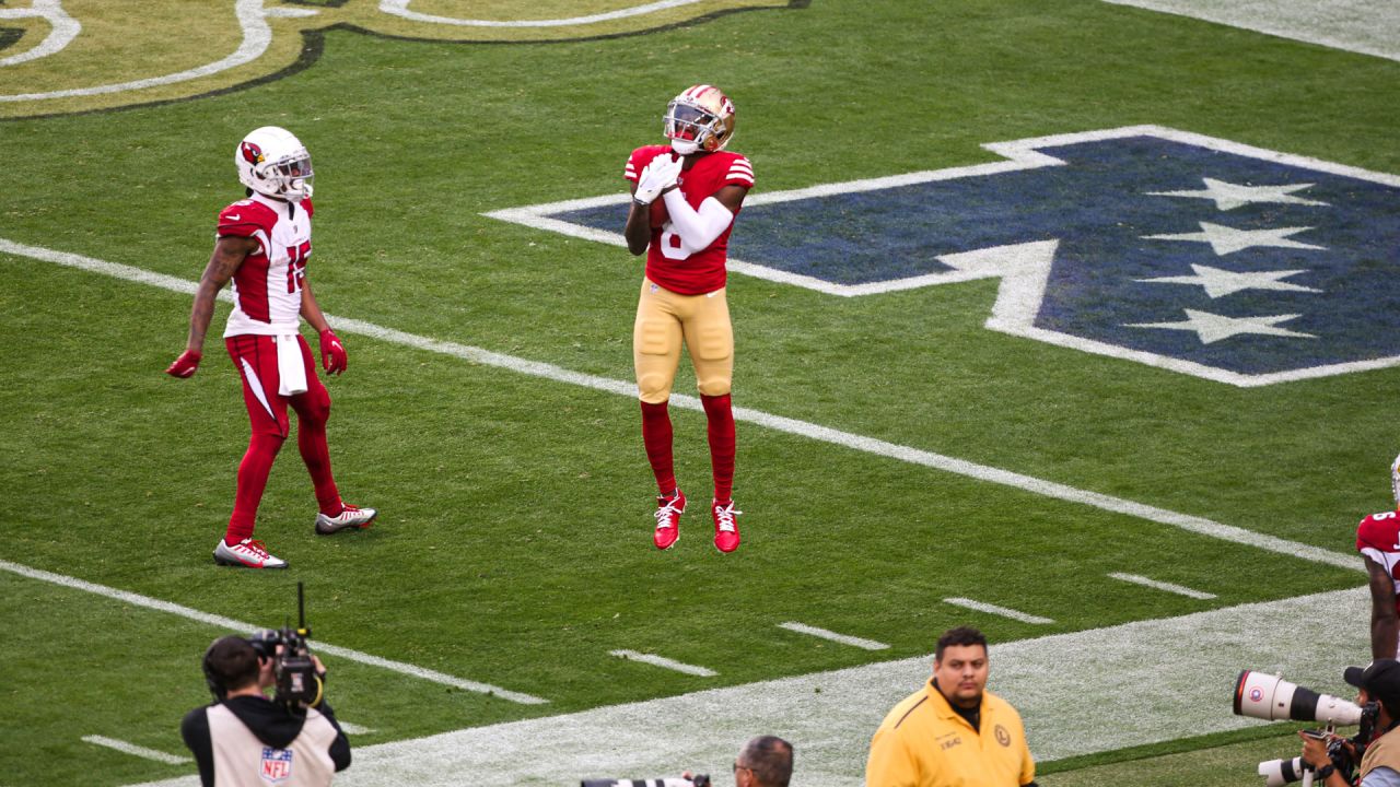
[[[174,276],[162,276],[158,273],[151,273],[148,270],[141,270],[140,267],[119,265],[113,262],[104,262],[99,259],[92,259],[76,253],[59,252],[41,246],[17,244],[14,241],[7,241],[4,238],[0,238],[0,253],[13,253],[18,256],[27,256],[31,259],[39,259],[56,265],[63,265],[67,267],[76,267],[78,270],[87,270],[91,273],[102,273],[105,276],[113,276],[129,281],[151,284],[154,287],[162,287],[176,293],[192,294],[197,287],[195,281],[189,281],[185,279],[176,279]],[[227,291],[220,293],[220,295],[224,297],[225,300],[231,298],[231,295]],[[326,315],[326,319],[329,319],[330,325],[333,325],[337,330],[344,330],[347,333],[360,333],[363,336],[379,339],[381,342],[392,342],[395,344],[403,344],[406,347],[441,353],[445,356],[463,358],[470,363],[479,363],[483,365],[504,368],[519,374],[528,374],[532,377],[542,377],[545,379],[553,379],[556,382],[567,382],[570,385],[592,388],[595,391],[605,391],[608,394],[616,394],[620,396],[630,396],[630,398],[637,396],[637,385],[630,381],[624,382],[620,379],[610,379],[606,377],[570,371],[553,364],[529,361],[525,358],[518,358],[515,356],[493,353],[490,350],[483,350],[480,347],[458,344],[455,342],[440,342],[437,339],[428,339],[413,333],[405,333],[402,330],[393,330],[391,328],[382,328],[372,322],[363,322],[358,319],[340,318],[332,315]],[[704,406],[700,403],[700,399],[697,396],[675,394],[671,396],[671,403],[678,408],[704,412]],[[797,419],[788,419],[784,416],[774,416],[770,413],[752,410],[748,408],[735,408],[734,417],[735,420],[752,423],[756,426],[762,426],[764,429],[771,429],[787,434],[795,434],[798,437],[805,437],[808,440],[829,443],[832,445],[841,445],[846,448],[851,448],[854,451],[862,451],[867,454],[885,457],[888,459],[895,459],[899,462],[909,462],[911,465],[921,465],[925,468],[932,468],[935,471],[955,473],[983,480],[987,483],[1009,486],[1014,489],[1030,492],[1032,494],[1053,497],[1056,500],[1065,500],[1068,503],[1078,503],[1082,506],[1100,508],[1103,511],[1113,511],[1138,520],[1156,522],[1159,525],[1169,525],[1207,538],[1214,538],[1232,543],[1240,543],[1245,546],[1253,546],[1256,549],[1263,549],[1267,552],[1277,552],[1278,555],[1298,557],[1299,560],[1326,563],[1329,566],[1351,569],[1355,571],[1362,570],[1361,562],[1351,555],[1331,552],[1329,549],[1320,549],[1308,543],[1299,543],[1295,541],[1281,539],[1271,535],[1256,534],[1245,528],[1225,525],[1221,522],[1215,522],[1212,520],[1205,520],[1203,517],[1177,514],[1176,511],[1168,511],[1165,508],[1158,508],[1155,506],[1134,503],[1131,500],[1124,500],[1121,497],[1113,497],[1109,494],[1099,494],[1098,492],[1088,492],[1068,485],[1056,483],[1051,480],[1043,480],[1033,476],[1004,471],[1000,468],[979,465],[976,462],[969,462],[966,459],[956,459],[953,457],[934,454],[932,451],[923,451],[918,448],[910,448],[907,445],[897,445],[883,440],[876,440],[874,437],[862,437],[860,434],[840,431],[836,429],[818,426]]]

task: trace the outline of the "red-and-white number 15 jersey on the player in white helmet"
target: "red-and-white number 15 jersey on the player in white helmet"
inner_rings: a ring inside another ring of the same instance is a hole
[[[218,213],[217,237],[252,238],[258,251],[234,273],[234,311],[224,336],[281,336],[301,325],[301,281],[311,256],[311,200],[255,193]]]

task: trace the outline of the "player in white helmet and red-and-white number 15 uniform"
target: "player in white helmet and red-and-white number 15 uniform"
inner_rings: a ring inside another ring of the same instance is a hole
[[[311,472],[321,513],[315,531],[329,535],[367,528],[374,508],[356,508],[340,500],[330,475],[326,419],[330,395],[316,377],[311,347],[301,337],[300,316],[321,335],[321,363],[330,374],[346,370],[346,350],[321,314],[307,259],[311,256],[311,154],[286,129],[263,126],[234,150],[238,179],[248,199],[220,211],[214,253],[204,267],[189,315],[185,351],[165,370],[172,377],[192,377],[204,350],[204,332],[214,314],[214,298],[230,280],[234,311],[224,329],[224,346],[244,381],[244,403],[252,422],[248,452],[238,465],[238,492],[228,531],[214,548],[221,566],[286,569],[287,562],[253,541],[253,522],[267,473],[290,434],[287,406],[297,410],[297,447]]]

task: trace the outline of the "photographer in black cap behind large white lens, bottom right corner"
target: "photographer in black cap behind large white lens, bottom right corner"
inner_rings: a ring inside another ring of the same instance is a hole
[[[1361,689],[1357,704],[1375,709],[1375,731],[1378,737],[1366,746],[1361,758],[1361,787],[1400,787],[1400,661],[1379,658],[1368,667],[1348,667],[1347,683]],[[1365,728],[1362,718],[1362,728]],[[1315,784],[1326,787],[1347,787],[1348,781],[1333,766],[1327,752],[1329,741],[1299,731],[1303,739],[1302,759],[1317,773]],[[1351,745],[1345,744],[1350,749]]]

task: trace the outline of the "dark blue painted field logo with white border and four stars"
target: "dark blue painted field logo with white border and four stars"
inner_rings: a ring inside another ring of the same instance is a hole
[[[984,147],[1005,160],[755,193],[731,270],[1000,279],[993,330],[1242,386],[1400,364],[1400,176],[1158,126]],[[491,216],[620,245],[622,204]]]

